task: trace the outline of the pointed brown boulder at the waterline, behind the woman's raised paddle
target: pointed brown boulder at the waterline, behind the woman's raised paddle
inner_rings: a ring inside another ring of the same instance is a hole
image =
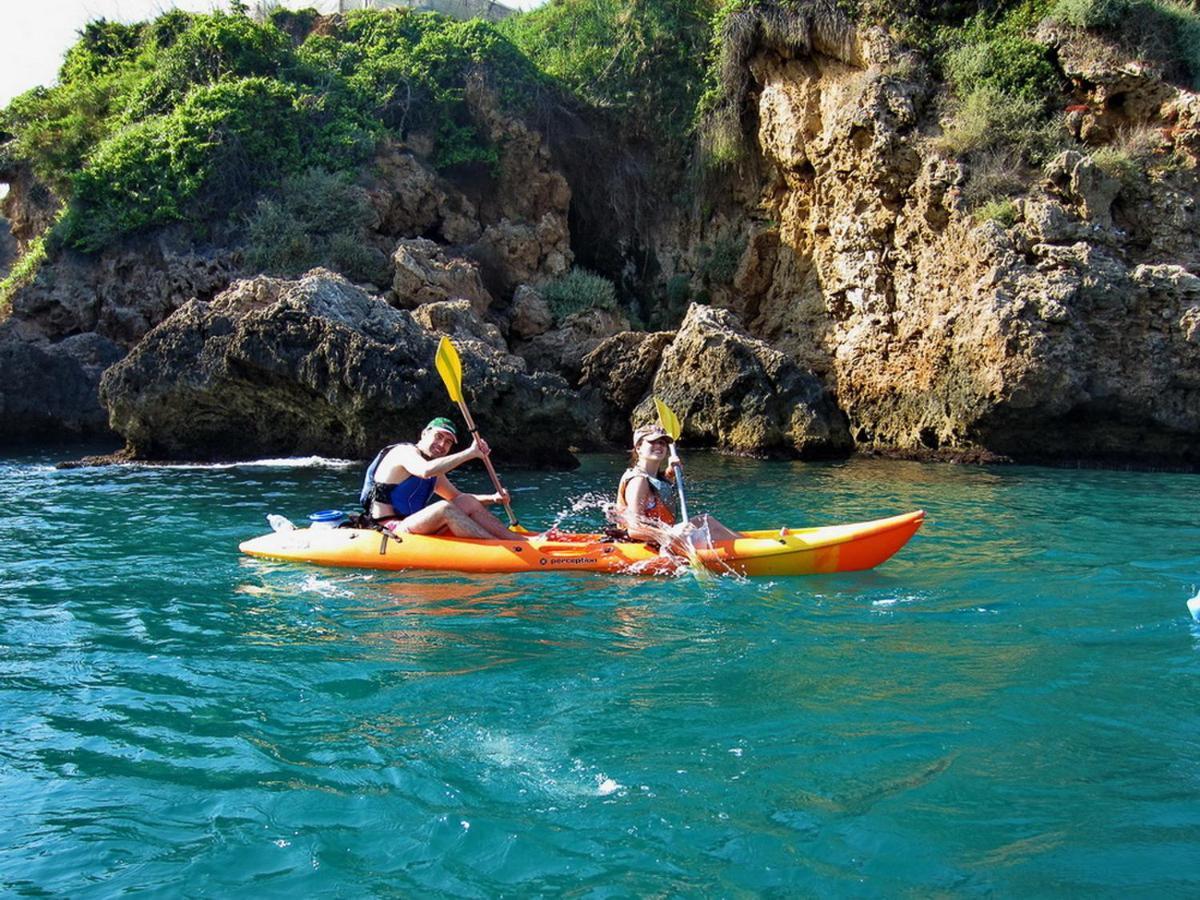
[[[662,352],[653,395],[676,412],[692,444],[804,458],[851,450],[846,418],[821,382],[746,334],[726,310],[692,304]],[[654,415],[647,397],[635,418]]]

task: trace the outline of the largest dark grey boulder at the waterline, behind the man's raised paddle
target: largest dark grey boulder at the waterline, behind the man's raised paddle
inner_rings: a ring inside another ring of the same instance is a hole
[[[137,458],[367,457],[454,404],[433,367],[437,335],[344,278],[235,283],[192,301],[109,368],[101,398]],[[498,458],[568,464],[586,430],[559,377],[458,343],[472,413]]]

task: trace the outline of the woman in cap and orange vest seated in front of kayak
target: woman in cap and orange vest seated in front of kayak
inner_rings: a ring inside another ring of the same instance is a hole
[[[676,523],[674,467],[679,464],[671,436],[658,425],[643,425],[634,432],[630,467],[617,485],[613,514],[617,524],[634,540],[667,546],[680,538],[696,544],[707,534],[709,541],[740,538],[709,515],[692,516]]]

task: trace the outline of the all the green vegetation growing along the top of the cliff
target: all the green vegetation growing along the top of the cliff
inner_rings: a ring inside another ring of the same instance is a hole
[[[102,19],[80,32],[56,85],[0,112],[0,167],[28,166],[65,206],[5,284],[28,280],[60,245],[94,252],[169,223],[198,235],[214,223],[241,229],[247,259],[266,269],[319,262],[368,277],[374,258],[354,239],[367,224],[359,202],[347,196],[331,224],[292,194],[317,172],[335,193],[349,191],[346,176],[384,138],[420,138],[442,170],[494,169],[500,149],[473,115],[474,85],[517,115],[574,97],[678,173],[692,158],[744,152],[755,53],[810,48],[854,62],[866,24],[944,78],[938,143],[968,162],[965,193],[978,208],[1020,192],[1030,167],[1070,142],[1067,80],[1037,38],[1048,17],[1200,78],[1200,16],[1178,0],[551,0],[498,25],[410,11]],[[1115,145],[1097,160],[1129,175],[1147,152]],[[697,274],[727,281],[725,256]],[[679,287],[665,290],[678,306]]]

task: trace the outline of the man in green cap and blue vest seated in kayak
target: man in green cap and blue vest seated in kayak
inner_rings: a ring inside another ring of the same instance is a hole
[[[394,533],[437,534],[446,529],[458,538],[527,540],[484,508],[485,503],[508,500],[506,491],[470,494],[450,484],[448,472],[491,452],[480,437],[466,450],[450,452],[456,443],[454,422],[439,416],[425,426],[415,444],[390,444],[380,450],[362,481],[360,499],[367,515]],[[434,500],[433,494],[442,499]]]

